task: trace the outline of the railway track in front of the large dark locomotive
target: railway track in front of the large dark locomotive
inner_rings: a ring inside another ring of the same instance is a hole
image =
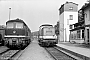
[[[16,55],[20,50],[7,50],[0,54],[0,60],[13,60],[13,56]]]

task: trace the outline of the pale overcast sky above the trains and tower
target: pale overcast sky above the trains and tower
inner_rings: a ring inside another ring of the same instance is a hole
[[[78,4],[78,10],[87,0],[0,0],[0,25],[10,19],[22,19],[32,32],[45,23],[55,25],[59,20],[59,8],[66,1]],[[11,8],[11,11],[10,9]]]

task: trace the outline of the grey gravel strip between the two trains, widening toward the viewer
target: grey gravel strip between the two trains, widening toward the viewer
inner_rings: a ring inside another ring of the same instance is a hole
[[[43,47],[38,45],[37,40],[33,42],[24,50],[18,60],[54,60]]]

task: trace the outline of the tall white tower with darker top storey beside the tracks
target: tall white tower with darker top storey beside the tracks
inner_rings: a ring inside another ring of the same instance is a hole
[[[59,41],[69,41],[69,26],[78,22],[78,4],[66,2],[59,8]]]

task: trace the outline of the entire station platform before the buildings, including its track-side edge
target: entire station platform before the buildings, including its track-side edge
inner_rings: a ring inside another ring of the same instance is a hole
[[[61,42],[57,46],[72,52],[72,54],[81,57],[83,60],[90,60],[90,45]]]

